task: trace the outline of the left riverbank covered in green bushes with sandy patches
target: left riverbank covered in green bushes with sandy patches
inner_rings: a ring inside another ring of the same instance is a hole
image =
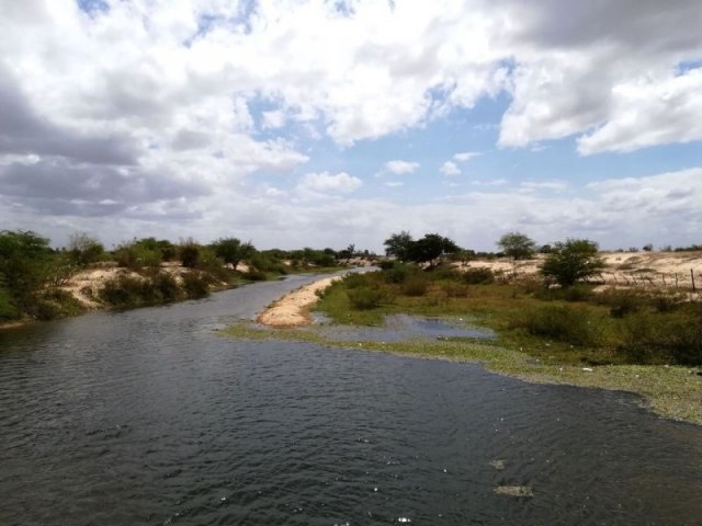
[[[63,287],[79,271],[117,266],[131,274],[105,283],[94,299],[107,307],[136,307],[202,297],[213,287],[242,281],[268,279],[307,268],[336,267],[359,253],[344,250],[257,250],[251,242],[222,238],[203,244],[179,243],[154,237],[133,239],[113,250],[86,233],[70,237],[67,247],[53,249],[48,238],[33,231],[0,231],[0,321],[54,319],[73,316],[82,305]],[[246,272],[237,272],[246,263]],[[168,274],[162,267],[183,272]]]

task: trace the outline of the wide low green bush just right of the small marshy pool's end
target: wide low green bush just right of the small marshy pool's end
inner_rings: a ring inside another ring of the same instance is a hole
[[[593,345],[599,339],[588,313],[568,306],[546,305],[522,311],[512,318],[510,327],[571,345]]]

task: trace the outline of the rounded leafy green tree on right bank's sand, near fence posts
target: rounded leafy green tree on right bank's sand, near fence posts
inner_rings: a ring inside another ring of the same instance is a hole
[[[588,239],[567,239],[554,243],[541,266],[541,274],[569,287],[578,279],[598,274],[604,261],[598,255],[598,244]]]

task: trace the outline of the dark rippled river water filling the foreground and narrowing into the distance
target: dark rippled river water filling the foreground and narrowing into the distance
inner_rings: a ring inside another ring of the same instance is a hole
[[[631,395],[216,334],[312,279],[0,331],[0,524],[702,524]]]

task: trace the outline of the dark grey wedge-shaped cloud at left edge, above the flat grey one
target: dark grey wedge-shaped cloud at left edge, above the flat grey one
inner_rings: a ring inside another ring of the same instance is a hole
[[[75,162],[136,164],[137,150],[125,137],[89,137],[43,118],[0,67],[0,153],[57,156]]]

